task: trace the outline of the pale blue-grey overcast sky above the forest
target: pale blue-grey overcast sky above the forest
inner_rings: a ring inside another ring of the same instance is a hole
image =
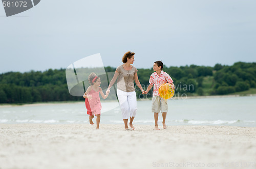
[[[67,68],[100,53],[104,66],[256,62],[256,1],[41,0],[6,17],[0,4],[0,73]]]

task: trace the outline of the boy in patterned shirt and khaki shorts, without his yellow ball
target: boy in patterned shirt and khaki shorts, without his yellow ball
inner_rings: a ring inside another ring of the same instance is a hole
[[[163,63],[162,61],[156,61],[153,66],[154,73],[150,76],[150,85],[147,87],[146,91],[143,92],[143,94],[147,94],[148,91],[151,90],[151,88],[154,85],[154,92],[153,92],[153,98],[152,98],[152,112],[154,112],[154,119],[155,119],[155,129],[159,130],[158,128],[158,113],[162,112],[163,114],[163,128],[166,129],[165,125],[165,119],[166,114],[168,110],[168,104],[167,100],[160,97],[160,94],[158,92],[159,87],[164,83],[170,83],[172,85],[172,89],[174,89],[174,81],[173,79],[164,71],[163,69]]]

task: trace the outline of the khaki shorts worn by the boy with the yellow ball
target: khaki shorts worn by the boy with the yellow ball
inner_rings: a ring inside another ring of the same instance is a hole
[[[164,100],[160,96],[153,96],[152,98],[152,112],[167,112],[168,103],[167,100]]]

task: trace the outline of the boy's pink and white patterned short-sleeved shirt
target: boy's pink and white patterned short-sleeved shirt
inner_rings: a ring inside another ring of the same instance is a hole
[[[154,85],[154,96],[160,96],[158,89],[159,87],[164,83],[173,83],[173,79],[168,75],[168,73],[165,73],[164,71],[161,71],[160,75],[158,76],[157,72],[154,72],[150,76],[150,85]]]

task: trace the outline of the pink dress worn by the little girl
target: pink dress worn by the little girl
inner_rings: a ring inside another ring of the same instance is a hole
[[[90,116],[93,115],[100,115],[100,110],[101,110],[101,103],[100,103],[100,98],[99,98],[99,91],[95,92],[93,89],[87,94],[91,95],[92,99],[89,100],[86,98],[86,107],[87,107],[87,114]],[[89,105],[88,105],[89,104]]]

